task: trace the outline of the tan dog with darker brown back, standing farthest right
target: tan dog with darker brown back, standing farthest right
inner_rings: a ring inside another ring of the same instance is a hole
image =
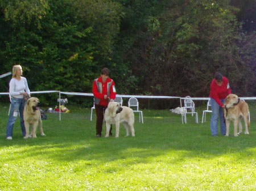
[[[245,122],[245,134],[249,134],[248,128],[250,128],[249,121],[249,107],[248,104],[240,100],[237,95],[229,94],[226,97],[226,102],[224,103],[226,109],[224,109],[224,117],[226,120],[226,136],[229,135],[230,122],[233,121],[234,124],[234,137],[237,137],[242,133],[242,118]],[[239,133],[237,133],[237,126],[239,124]]]

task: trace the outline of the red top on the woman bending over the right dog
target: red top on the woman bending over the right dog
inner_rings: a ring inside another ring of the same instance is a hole
[[[212,97],[221,107],[223,106],[221,100],[225,99],[229,94],[231,94],[231,90],[228,78],[223,77],[221,86],[218,86],[215,79],[212,80],[212,83],[210,83],[210,97]]]

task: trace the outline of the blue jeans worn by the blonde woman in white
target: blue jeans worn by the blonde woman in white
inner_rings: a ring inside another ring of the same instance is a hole
[[[26,135],[26,129],[24,126],[24,119],[23,119],[23,111],[24,111],[26,102],[27,100],[12,97],[9,120],[7,123],[6,137],[9,137],[9,136],[13,137],[13,125],[18,116],[20,116],[20,127],[22,129],[23,137]],[[19,111],[19,115],[14,116],[14,111]]]

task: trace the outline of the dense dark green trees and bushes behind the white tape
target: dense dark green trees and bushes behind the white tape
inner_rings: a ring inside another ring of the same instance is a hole
[[[220,71],[234,93],[254,96],[256,34],[243,25],[254,3],[246,2],[1,1],[1,74],[19,63],[32,91],[91,92],[106,66],[118,94],[201,97]]]

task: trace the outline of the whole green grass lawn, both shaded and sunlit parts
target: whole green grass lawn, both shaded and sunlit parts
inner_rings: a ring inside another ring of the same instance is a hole
[[[204,124],[191,116],[181,124],[170,111],[143,110],[135,137],[121,126],[119,138],[96,138],[95,111],[90,121],[90,108],[67,105],[61,121],[47,113],[46,137],[38,129],[24,140],[17,121],[9,141],[9,105],[0,105],[0,190],[255,190],[254,106],[250,134],[239,137],[211,137],[209,113]]]

